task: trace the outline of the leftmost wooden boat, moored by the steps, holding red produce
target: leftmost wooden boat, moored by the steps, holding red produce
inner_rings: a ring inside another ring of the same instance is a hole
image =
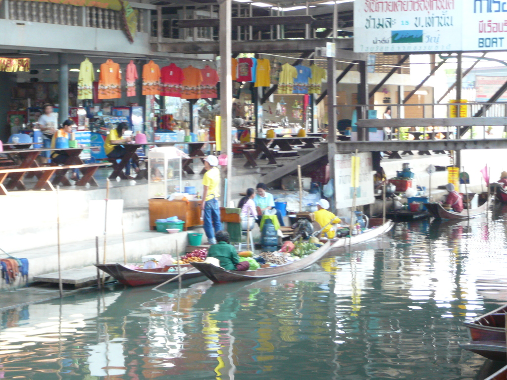
[[[104,271],[105,273],[113,276],[116,280],[128,286],[142,286],[142,285],[156,285],[161,284],[167,280],[178,275],[177,270],[168,272],[172,268],[177,268],[177,265],[168,265],[165,268],[155,269],[130,269],[122,264],[95,264],[95,267]],[[191,268],[190,264],[180,265],[180,273],[183,273]],[[182,280],[191,279],[194,277],[202,276],[198,270],[190,271],[182,276]]]

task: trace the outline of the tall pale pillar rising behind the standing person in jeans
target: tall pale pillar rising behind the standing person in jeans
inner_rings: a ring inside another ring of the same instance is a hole
[[[232,75],[231,75],[231,3],[232,0],[221,0],[220,4],[220,65],[221,70],[221,83],[220,83],[220,116],[222,119],[221,125],[221,145],[222,153],[228,156],[227,167],[223,175],[223,179],[227,179],[227,192],[224,192],[224,197],[227,203],[231,200],[231,177],[232,177]],[[225,181],[224,181],[225,183]],[[226,205],[224,205],[226,206]]]

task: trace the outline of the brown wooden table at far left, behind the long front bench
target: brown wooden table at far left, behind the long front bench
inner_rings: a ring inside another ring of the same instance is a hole
[[[44,151],[65,151],[65,153],[68,155],[67,160],[63,163],[63,165],[80,165],[83,164],[83,161],[79,158],[79,155],[83,151],[83,148],[63,148],[63,149],[53,149],[53,148],[37,148],[37,149],[15,149],[15,150],[6,150],[3,153],[11,156],[11,155],[17,155],[19,156],[23,161],[19,165],[18,169],[28,169],[28,168],[38,168],[39,165],[35,161],[35,159]],[[68,169],[67,169],[68,170]],[[62,169],[61,171],[64,171],[62,175],[58,173],[55,176],[55,179],[53,180],[53,184],[58,184],[62,182],[64,186],[69,186],[70,182],[67,178],[65,178],[65,172],[66,170]],[[60,172],[60,171],[59,171]],[[23,183],[23,176],[26,174],[26,171],[17,171],[15,173],[11,173],[9,175],[9,183],[7,183],[6,188],[7,189],[13,189],[18,188],[19,190],[26,190],[26,186]],[[40,178],[40,176],[43,174],[41,171],[37,172],[35,171],[35,176],[37,178]],[[58,179],[57,182],[55,180]],[[95,181],[93,179],[93,181]],[[95,182],[96,183],[96,182]]]

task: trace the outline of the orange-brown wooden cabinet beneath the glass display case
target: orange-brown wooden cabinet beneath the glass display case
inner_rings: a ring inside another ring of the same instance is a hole
[[[149,199],[150,230],[155,230],[155,220],[177,216],[185,221],[184,231],[188,227],[202,225],[201,220],[202,201],[168,201],[167,199]]]

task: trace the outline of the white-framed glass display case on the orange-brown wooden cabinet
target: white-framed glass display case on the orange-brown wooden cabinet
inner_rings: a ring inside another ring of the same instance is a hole
[[[148,154],[148,198],[167,199],[182,192],[182,159],[165,152]]]

